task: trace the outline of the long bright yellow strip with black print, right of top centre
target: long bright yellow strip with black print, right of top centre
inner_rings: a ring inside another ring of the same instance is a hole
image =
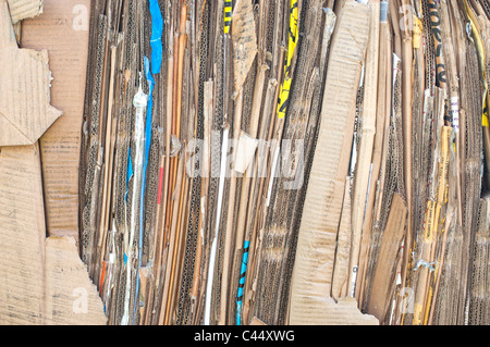
[[[293,82],[291,75],[291,64],[293,62],[294,51],[296,50],[297,45],[297,0],[291,0],[289,33],[290,38],[287,42],[287,54],[284,64],[284,83],[282,84],[281,91],[279,94],[279,119],[283,119],[287,111],[290,102],[290,89]]]

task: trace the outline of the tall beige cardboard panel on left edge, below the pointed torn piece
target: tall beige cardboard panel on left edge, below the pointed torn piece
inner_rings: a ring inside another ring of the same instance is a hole
[[[0,324],[44,323],[45,212],[39,150],[0,148]]]

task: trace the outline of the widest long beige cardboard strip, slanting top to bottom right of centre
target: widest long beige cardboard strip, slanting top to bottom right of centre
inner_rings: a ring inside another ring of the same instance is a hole
[[[292,324],[324,324],[335,240],[351,157],[356,95],[369,33],[369,8],[342,9],[333,34],[321,125],[306,193],[292,278]]]

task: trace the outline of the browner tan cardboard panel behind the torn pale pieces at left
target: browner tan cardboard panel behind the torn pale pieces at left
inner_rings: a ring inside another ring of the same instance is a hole
[[[45,0],[22,23],[22,46],[46,48],[54,79],[51,103],[63,111],[40,139],[48,234],[78,239],[78,161],[88,51],[88,0]]]

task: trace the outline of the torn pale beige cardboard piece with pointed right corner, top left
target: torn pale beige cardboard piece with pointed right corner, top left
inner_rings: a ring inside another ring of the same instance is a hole
[[[19,49],[0,0],[0,147],[33,145],[61,115],[50,106],[48,52]]]

